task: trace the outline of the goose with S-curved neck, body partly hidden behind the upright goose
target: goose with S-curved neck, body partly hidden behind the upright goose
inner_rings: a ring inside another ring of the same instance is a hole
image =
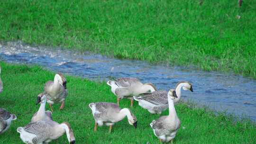
[[[174,103],[178,103],[181,99],[181,89],[191,90],[193,92],[192,84],[188,81],[180,81],[176,84],[175,91],[178,98],[174,99]],[[168,108],[167,91],[153,91],[152,93],[141,94],[133,98],[138,101],[139,106],[145,108],[151,114],[161,114],[162,111]]]

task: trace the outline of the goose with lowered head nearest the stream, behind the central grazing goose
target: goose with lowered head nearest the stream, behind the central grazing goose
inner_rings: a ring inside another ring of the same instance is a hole
[[[152,83],[141,83],[136,78],[120,78],[115,81],[108,81],[107,84],[111,87],[111,91],[117,96],[117,104],[123,98],[131,99],[131,107],[133,106],[133,96],[148,91],[156,91]]]

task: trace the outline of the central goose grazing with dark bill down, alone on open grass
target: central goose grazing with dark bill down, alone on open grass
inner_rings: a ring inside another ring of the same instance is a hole
[[[109,132],[111,132],[112,126],[126,116],[128,123],[137,128],[137,118],[128,108],[121,109],[117,104],[109,102],[90,103],[89,107],[95,119],[94,132],[97,131],[98,125],[103,126],[104,123],[106,126],[110,126]]]

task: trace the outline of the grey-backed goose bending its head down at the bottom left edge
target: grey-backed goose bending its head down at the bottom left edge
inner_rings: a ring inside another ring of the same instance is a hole
[[[48,144],[64,133],[67,135],[69,144],[75,144],[73,130],[68,122],[59,124],[55,121],[37,121],[18,127],[17,132],[25,144]]]

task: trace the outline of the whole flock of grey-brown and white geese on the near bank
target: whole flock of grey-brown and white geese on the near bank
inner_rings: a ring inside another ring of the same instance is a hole
[[[0,68],[1,72],[1,68]],[[169,91],[157,90],[152,83],[143,84],[137,78],[119,78],[114,81],[107,81],[111,91],[117,97],[117,104],[110,102],[92,102],[89,104],[92,116],[95,120],[94,132],[97,126],[109,126],[111,133],[112,126],[127,117],[128,123],[137,128],[137,117],[129,108],[120,108],[120,99],[130,99],[130,107],[133,107],[133,100],[138,105],[147,109],[151,114],[161,114],[169,109],[168,116],[159,117],[153,120],[151,126],[154,135],[160,142],[172,142],[180,128],[180,119],[174,108],[174,104],[181,99],[181,90],[191,90],[192,84],[188,81],[180,81],[175,89]],[[0,92],[3,90],[0,78]],[[75,136],[71,125],[68,122],[58,123],[53,120],[54,103],[61,103],[60,109],[64,108],[64,101],[67,98],[66,79],[61,73],[56,73],[54,81],[47,81],[44,91],[37,96],[36,104],[40,104],[38,111],[33,115],[29,124],[18,127],[17,132],[20,139],[26,144],[48,144],[66,134],[69,144],[75,144]],[[46,111],[46,102],[51,111]],[[17,119],[14,114],[6,109],[0,108],[0,134],[8,130],[12,120]]]

